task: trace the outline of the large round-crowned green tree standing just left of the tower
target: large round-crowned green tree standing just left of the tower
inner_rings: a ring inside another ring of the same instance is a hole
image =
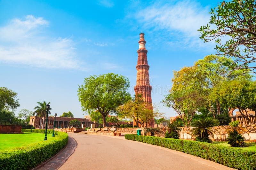
[[[78,88],[78,97],[83,111],[99,111],[106,127],[106,116],[116,113],[116,108],[130,99],[126,77],[108,73],[84,79]]]

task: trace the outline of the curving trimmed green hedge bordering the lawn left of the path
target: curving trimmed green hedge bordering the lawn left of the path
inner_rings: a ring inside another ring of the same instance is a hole
[[[22,132],[30,132],[31,129],[22,129]],[[44,133],[44,130],[32,130]],[[51,134],[52,130],[47,130]],[[53,131],[52,131],[53,132]],[[68,143],[68,134],[56,131],[56,139],[40,141],[38,143],[17,147],[9,151],[0,151],[0,169],[31,169],[38,164],[50,159]]]

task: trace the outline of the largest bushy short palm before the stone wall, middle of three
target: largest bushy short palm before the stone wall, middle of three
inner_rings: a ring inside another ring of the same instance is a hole
[[[193,136],[196,136],[196,141],[212,143],[209,135],[213,138],[213,131],[210,128],[217,125],[217,121],[213,118],[201,118],[191,123],[191,127],[193,127],[191,132]]]

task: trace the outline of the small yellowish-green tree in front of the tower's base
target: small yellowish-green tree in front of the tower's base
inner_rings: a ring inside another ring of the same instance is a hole
[[[163,114],[153,107],[149,108],[149,103],[143,101],[141,95],[136,95],[128,102],[118,107],[119,117],[133,119],[140,124],[142,134],[149,121],[154,117],[161,117]]]

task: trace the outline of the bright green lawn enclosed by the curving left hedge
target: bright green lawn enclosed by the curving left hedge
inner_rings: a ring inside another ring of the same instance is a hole
[[[10,150],[16,147],[29,145],[44,140],[44,133],[28,133],[24,134],[0,134],[0,151]],[[47,134],[47,139],[53,138],[52,134]]]

